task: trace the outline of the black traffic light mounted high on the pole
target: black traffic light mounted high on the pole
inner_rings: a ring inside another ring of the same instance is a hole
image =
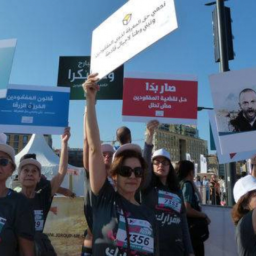
[[[234,55],[235,55],[233,50],[233,35],[232,35],[231,22],[232,20],[231,20],[230,8],[225,6],[225,25],[226,25],[226,35],[227,35],[228,60],[234,60]],[[212,12],[212,26],[213,26],[213,43],[214,43],[215,62],[220,62],[217,7],[215,7]]]

